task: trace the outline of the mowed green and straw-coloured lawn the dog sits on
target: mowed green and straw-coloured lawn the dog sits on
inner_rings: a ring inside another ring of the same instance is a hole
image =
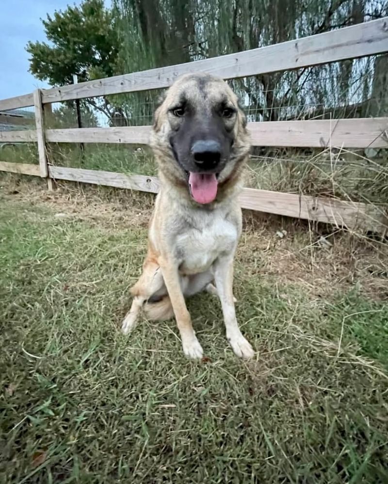
[[[174,321],[118,329],[152,197],[27,187],[0,190],[1,483],[388,482],[383,246],[247,215],[235,296],[256,357],[204,294],[192,362]]]

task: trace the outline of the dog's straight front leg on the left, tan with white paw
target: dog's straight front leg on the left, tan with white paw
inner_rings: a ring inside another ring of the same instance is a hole
[[[162,259],[162,258],[161,258]],[[189,358],[202,358],[203,350],[195,336],[190,314],[180,287],[178,266],[172,261],[160,260],[164,283],[173,306],[184,354]]]

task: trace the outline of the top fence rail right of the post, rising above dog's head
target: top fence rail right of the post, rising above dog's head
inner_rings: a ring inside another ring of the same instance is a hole
[[[170,86],[182,74],[242,78],[388,51],[388,17],[235,54],[42,91],[44,103]],[[0,103],[1,107],[1,103]]]

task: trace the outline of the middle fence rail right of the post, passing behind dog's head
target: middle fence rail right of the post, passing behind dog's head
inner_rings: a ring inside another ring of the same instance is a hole
[[[253,146],[384,148],[388,118],[249,123]],[[46,140],[62,143],[148,144],[151,126],[48,129]]]

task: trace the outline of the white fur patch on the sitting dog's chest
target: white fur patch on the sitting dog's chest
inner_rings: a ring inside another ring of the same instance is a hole
[[[186,274],[209,269],[220,255],[234,251],[237,243],[237,227],[225,218],[214,217],[201,225],[190,227],[177,237],[180,270]]]

